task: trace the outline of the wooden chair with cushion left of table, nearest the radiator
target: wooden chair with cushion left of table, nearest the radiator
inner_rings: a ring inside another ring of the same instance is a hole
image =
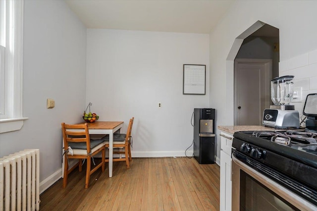
[[[63,188],[67,185],[68,174],[79,165],[79,171],[82,171],[82,160],[87,159],[86,170],[86,182],[85,188],[88,188],[90,175],[94,173],[98,168],[102,167],[102,171],[105,171],[105,140],[97,139],[91,140],[88,132],[88,125],[78,124],[70,125],[61,123],[64,140],[64,178]],[[69,149],[70,147],[71,149]],[[102,161],[91,169],[91,158],[102,152]],[[68,169],[68,159],[78,159],[78,163]]]

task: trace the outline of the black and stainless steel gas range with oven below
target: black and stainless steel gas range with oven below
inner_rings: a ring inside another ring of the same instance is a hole
[[[307,95],[303,114],[302,130],[233,134],[232,208],[317,210],[317,93]]]

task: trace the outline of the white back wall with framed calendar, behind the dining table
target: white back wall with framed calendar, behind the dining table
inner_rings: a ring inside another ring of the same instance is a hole
[[[87,31],[92,110],[100,120],[124,121],[124,130],[135,117],[134,157],[184,156],[193,141],[194,107],[209,106],[209,35]],[[206,64],[206,95],[183,95],[183,64]]]

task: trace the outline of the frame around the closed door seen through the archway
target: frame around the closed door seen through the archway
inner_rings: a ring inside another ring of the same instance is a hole
[[[272,78],[272,59],[258,59],[258,58],[236,58],[234,60],[234,106],[233,106],[233,113],[234,113],[234,125],[237,125],[238,119],[238,101],[237,101],[237,77],[236,77],[236,70],[238,64],[263,64],[264,65],[264,102],[260,104],[260,122],[259,125],[262,124],[262,115],[264,108],[269,108],[270,105],[270,81]],[[262,111],[262,112],[261,112]]]

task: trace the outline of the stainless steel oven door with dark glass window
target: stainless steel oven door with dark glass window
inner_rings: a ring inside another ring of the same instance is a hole
[[[314,204],[247,165],[243,156],[235,151],[232,154],[232,211],[317,210]]]

